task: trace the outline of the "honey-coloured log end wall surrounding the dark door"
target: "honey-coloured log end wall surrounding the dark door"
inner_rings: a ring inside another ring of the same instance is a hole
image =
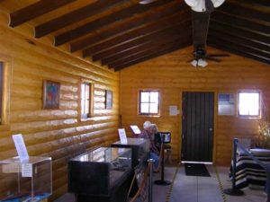
[[[207,48],[209,53],[222,51]],[[131,66],[121,71],[121,124],[127,128],[145,120],[157,123],[159,131],[171,131],[173,158],[180,160],[181,114],[169,116],[169,106],[175,105],[182,113],[182,92],[199,91],[215,93],[214,150],[216,164],[229,165],[232,139],[257,136],[258,119],[239,119],[237,116],[218,116],[218,93],[235,93],[239,90],[260,90],[263,101],[270,107],[270,66],[244,57],[229,54],[220,63],[209,62],[205,68],[189,64],[193,48],[185,48],[166,56]],[[139,90],[158,90],[161,95],[159,117],[138,115]]]

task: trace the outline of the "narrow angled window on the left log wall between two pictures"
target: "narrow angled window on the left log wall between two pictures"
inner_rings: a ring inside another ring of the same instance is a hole
[[[92,116],[92,83],[81,83],[81,119]]]

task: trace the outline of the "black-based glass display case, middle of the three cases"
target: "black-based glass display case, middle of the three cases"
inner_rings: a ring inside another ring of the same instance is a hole
[[[68,191],[78,195],[111,196],[130,173],[129,148],[100,147],[69,160]]]

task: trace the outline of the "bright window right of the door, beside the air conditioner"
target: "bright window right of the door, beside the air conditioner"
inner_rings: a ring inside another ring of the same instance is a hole
[[[238,92],[238,116],[260,117],[260,92]]]

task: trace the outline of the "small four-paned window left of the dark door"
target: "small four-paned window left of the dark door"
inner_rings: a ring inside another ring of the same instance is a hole
[[[159,113],[159,92],[139,91],[139,114],[157,115]]]

